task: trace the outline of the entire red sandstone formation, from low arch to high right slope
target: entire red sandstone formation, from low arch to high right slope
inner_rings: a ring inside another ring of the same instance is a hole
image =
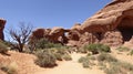
[[[75,23],[69,30],[53,28],[39,33],[42,34],[39,38],[47,36],[52,42],[71,46],[90,43],[121,45],[133,36],[133,0],[114,0],[82,24]]]

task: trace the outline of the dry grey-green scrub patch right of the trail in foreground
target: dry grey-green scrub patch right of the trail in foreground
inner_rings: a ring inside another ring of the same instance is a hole
[[[86,55],[79,59],[83,67],[92,67],[96,65],[103,70],[105,74],[132,74],[133,65],[126,62],[121,62],[110,53],[100,53],[98,55]]]

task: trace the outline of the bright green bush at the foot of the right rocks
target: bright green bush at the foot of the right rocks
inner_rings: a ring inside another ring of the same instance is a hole
[[[92,54],[98,54],[101,52],[111,52],[110,46],[108,45],[103,45],[103,44],[89,44],[85,45],[84,49],[86,49],[88,51],[92,52]]]

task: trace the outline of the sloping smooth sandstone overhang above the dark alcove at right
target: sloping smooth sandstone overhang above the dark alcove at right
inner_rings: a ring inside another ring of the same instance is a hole
[[[116,28],[133,29],[133,0],[109,3],[81,25],[83,32],[105,32]]]

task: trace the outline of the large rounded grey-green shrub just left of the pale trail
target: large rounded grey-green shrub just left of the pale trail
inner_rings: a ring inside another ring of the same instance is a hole
[[[53,67],[57,65],[55,56],[50,51],[39,51],[37,53],[38,59],[35,60],[35,64],[41,67]]]

